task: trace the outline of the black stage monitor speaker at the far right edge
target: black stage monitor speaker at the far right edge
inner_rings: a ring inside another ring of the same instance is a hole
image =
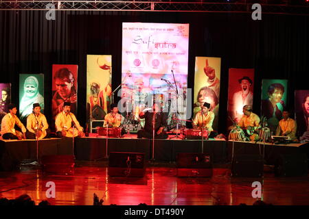
[[[277,177],[306,177],[308,175],[308,157],[305,153],[280,155],[275,162]]]

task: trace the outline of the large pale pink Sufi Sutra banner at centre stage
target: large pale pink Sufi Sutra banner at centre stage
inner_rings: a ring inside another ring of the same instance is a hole
[[[171,128],[175,112],[186,116],[189,24],[123,23],[122,28],[121,96],[126,104],[119,111],[138,117],[142,108],[159,101]]]

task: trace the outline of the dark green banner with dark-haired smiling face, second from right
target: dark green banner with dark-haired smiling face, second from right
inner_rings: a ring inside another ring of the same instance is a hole
[[[282,120],[282,112],[286,107],[288,96],[288,80],[263,79],[261,116],[266,117],[271,133],[275,135],[279,120]]]

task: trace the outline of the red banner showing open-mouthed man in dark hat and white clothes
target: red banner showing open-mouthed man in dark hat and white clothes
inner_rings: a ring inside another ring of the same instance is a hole
[[[253,68],[229,68],[227,127],[240,121],[244,115],[242,112],[244,105],[253,105],[253,83]]]

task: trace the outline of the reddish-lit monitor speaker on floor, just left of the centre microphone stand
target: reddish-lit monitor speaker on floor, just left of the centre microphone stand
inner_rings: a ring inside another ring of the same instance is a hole
[[[145,153],[109,153],[110,177],[144,177],[145,169]]]

